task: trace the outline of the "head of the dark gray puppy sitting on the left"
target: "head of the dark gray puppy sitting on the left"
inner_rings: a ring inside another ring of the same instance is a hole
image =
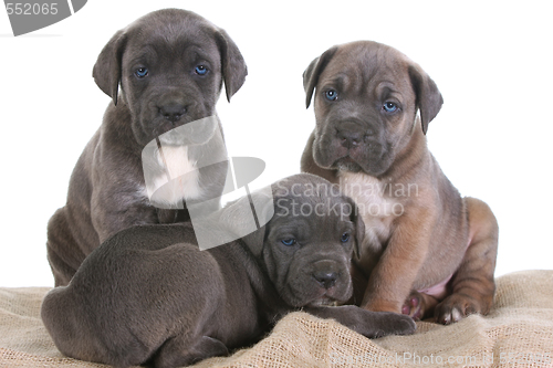
[[[143,145],[213,115],[222,82],[230,101],[246,75],[243,57],[228,34],[179,9],[148,13],[115,33],[93,70],[96,84],[114,104],[121,85],[133,133]]]

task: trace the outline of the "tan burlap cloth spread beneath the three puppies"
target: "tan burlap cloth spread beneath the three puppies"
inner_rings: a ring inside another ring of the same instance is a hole
[[[553,271],[512,273],[497,284],[486,317],[421,322],[413,336],[369,340],[296,312],[253,347],[195,367],[553,367]],[[39,317],[48,290],[0,288],[0,367],[105,367],[56,350]]]

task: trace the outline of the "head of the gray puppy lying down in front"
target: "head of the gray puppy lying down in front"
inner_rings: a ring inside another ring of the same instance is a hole
[[[243,240],[281,297],[296,307],[347,301],[352,252],[364,233],[354,202],[309,174],[274,183],[272,192],[273,217]]]

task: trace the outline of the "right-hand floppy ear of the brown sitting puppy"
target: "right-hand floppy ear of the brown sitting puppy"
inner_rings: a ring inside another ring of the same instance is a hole
[[[417,95],[417,107],[420,111],[422,133],[428,132],[428,124],[438,115],[444,98],[436,83],[417,64],[409,65],[409,77]]]

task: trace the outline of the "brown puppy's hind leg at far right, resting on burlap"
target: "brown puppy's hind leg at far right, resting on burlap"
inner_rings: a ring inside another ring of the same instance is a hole
[[[436,307],[436,319],[445,325],[469,314],[487,314],[495,291],[498,222],[488,204],[476,198],[465,200],[469,213],[469,248],[451,280],[452,294]]]

